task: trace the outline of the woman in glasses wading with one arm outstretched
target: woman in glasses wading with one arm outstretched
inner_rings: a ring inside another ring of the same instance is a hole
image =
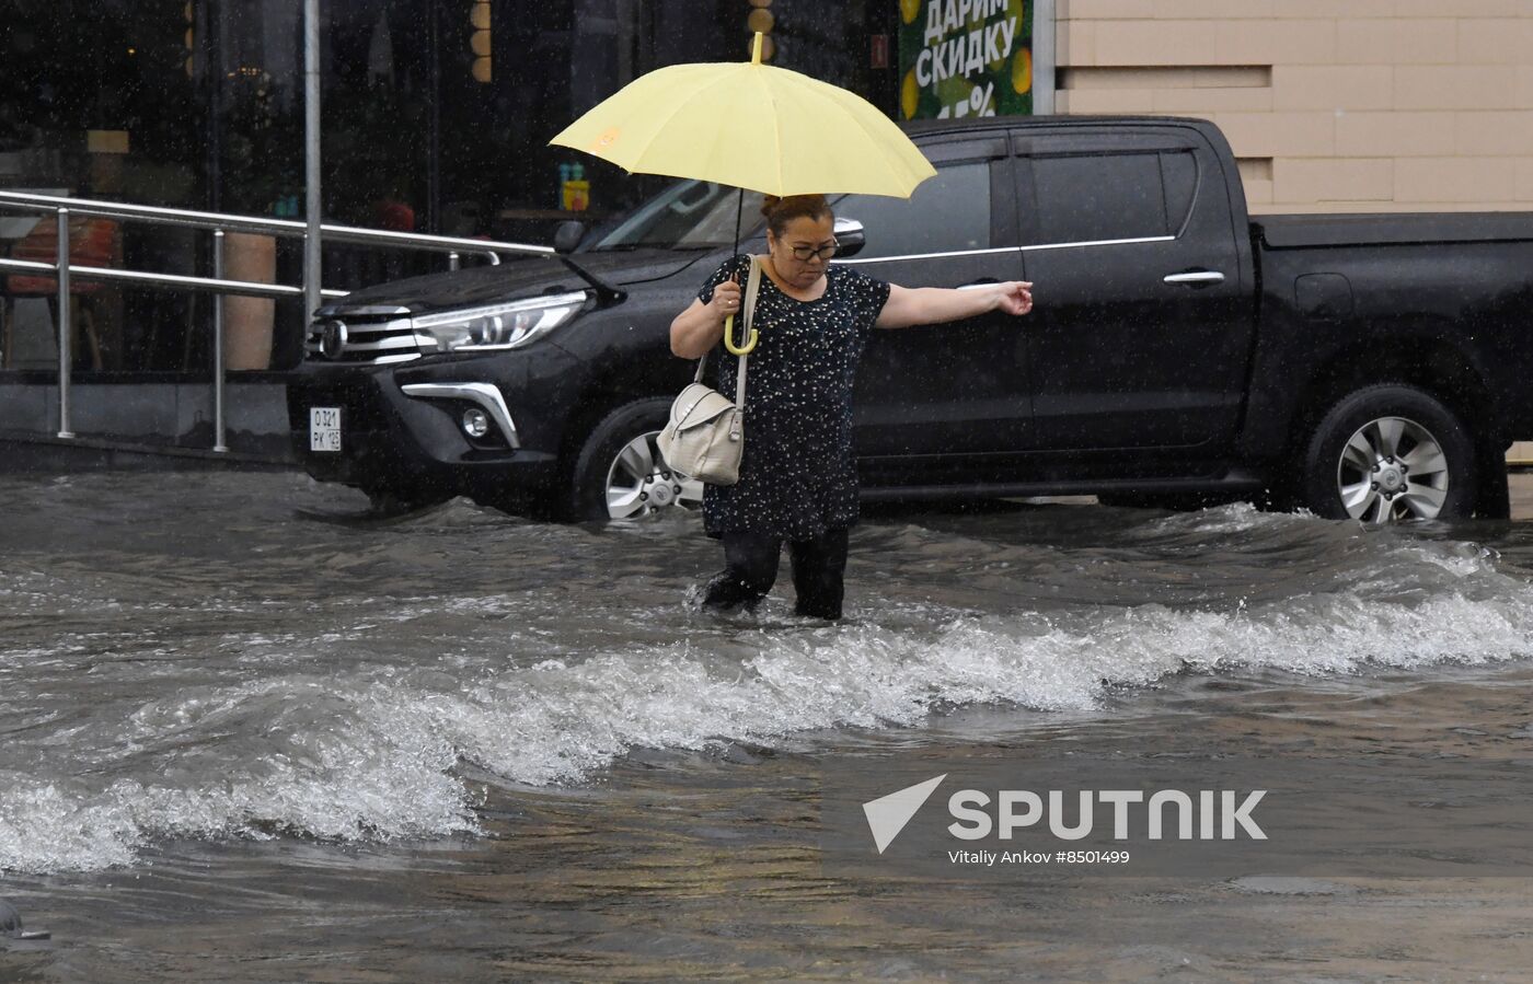
[[[857,523],[852,385],[872,328],[963,320],[1001,310],[1027,314],[1032,284],[908,290],[851,267],[831,267],[834,216],[823,195],[768,195],[766,256],[756,299],[759,342],[745,377],[740,480],[707,486],[704,529],[724,541],[725,567],[702,605],[754,607],[777,579],[782,544],[793,558],[799,615],[839,619],[848,529]],[[750,259],[721,265],[671,322],[671,353],[701,359],[737,314]],[[739,359],[719,351],[714,386],[734,392]]]

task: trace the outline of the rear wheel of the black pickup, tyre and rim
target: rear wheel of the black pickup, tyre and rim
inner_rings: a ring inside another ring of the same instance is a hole
[[[1367,526],[1466,520],[1475,507],[1475,441],[1415,386],[1357,389],[1320,420],[1302,460],[1303,504]]]

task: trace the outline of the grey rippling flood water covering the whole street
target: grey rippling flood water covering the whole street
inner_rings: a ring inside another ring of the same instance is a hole
[[[1533,881],[822,871],[895,749],[1533,751],[1533,521],[881,510],[848,618],[696,517],[0,478],[0,979],[1527,979]]]

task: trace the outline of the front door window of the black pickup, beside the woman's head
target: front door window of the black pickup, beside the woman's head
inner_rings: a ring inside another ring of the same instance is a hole
[[[832,201],[837,218],[857,219],[868,245],[857,259],[955,253],[990,248],[990,164],[938,166],[937,176],[909,201],[883,195],[846,195]]]

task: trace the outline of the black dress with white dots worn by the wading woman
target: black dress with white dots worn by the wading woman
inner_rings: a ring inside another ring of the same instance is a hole
[[[742,296],[750,259],[724,262],[699,291],[739,277]],[[826,270],[825,293],[796,300],[762,271],[756,296],[756,351],[745,369],[745,452],[740,481],[707,486],[704,529],[710,536],[751,532],[811,540],[857,521],[852,458],[852,386],[868,334],[889,299],[889,285],[851,267]],[[744,340],[736,317],[736,342]],[[739,359],[721,342],[708,356],[708,377],[734,397]]]

